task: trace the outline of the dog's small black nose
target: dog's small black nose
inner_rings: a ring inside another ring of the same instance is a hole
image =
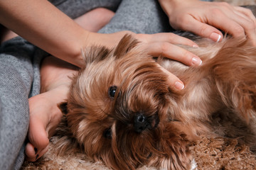
[[[134,116],[134,130],[135,132],[142,132],[148,128],[149,122],[142,113],[137,113],[137,115]]]

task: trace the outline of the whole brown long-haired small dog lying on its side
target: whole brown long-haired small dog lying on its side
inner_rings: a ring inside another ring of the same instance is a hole
[[[110,169],[191,169],[200,136],[237,138],[255,152],[256,48],[243,38],[196,40],[203,64],[147,55],[131,35],[85,49],[68,99],[59,104],[60,154],[80,151]],[[185,88],[176,91],[161,67]]]

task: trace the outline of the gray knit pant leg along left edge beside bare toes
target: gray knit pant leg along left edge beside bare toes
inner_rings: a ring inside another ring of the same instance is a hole
[[[39,61],[46,54],[36,51],[41,50],[20,37],[0,47],[0,169],[3,170],[18,169],[24,159],[28,98],[39,93]]]

